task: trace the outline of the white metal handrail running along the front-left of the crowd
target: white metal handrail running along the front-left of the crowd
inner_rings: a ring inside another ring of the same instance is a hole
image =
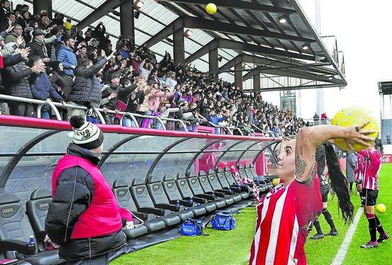
[[[82,109],[82,110],[89,110],[88,107],[84,106],[76,106],[76,105],[70,105],[70,104],[63,104],[63,103],[56,103],[50,100],[48,98],[47,100],[36,100],[33,98],[20,98],[16,96],[8,96],[8,95],[2,95],[0,94],[0,99],[3,100],[13,100],[13,101],[18,101],[18,102],[23,102],[23,103],[32,103],[32,104],[37,104],[37,117],[41,118],[40,110],[44,105],[50,105],[50,107],[54,110],[54,114],[56,114],[56,119],[58,121],[62,121],[61,115],[59,113],[59,109],[57,107],[63,108],[63,109]],[[98,119],[100,120],[100,123],[106,124],[105,119],[103,118],[102,112],[104,113],[110,113],[110,114],[120,114],[122,115],[121,120],[120,120],[120,125],[122,126],[122,121],[124,116],[130,116],[131,119],[135,122],[137,127],[139,127],[139,124],[137,123],[135,116],[139,118],[144,118],[144,119],[157,119],[160,124],[163,127],[163,130],[166,130],[165,123],[163,121],[174,121],[181,123],[181,126],[183,126],[184,130],[188,130],[188,126],[186,126],[186,122],[181,121],[179,119],[170,119],[170,118],[162,118],[160,116],[149,116],[149,115],[142,115],[142,114],[135,114],[135,113],[130,113],[130,112],[115,112],[114,110],[103,110],[98,107],[93,107],[93,111],[97,114]]]

